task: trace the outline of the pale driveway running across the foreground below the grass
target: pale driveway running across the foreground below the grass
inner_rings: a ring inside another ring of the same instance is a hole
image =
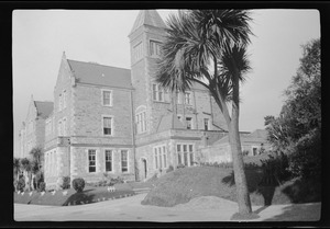
[[[175,207],[141,205],[146,193],[77,206],[14,204],[15,221],[230,221],[238,204],[215,196],[202,196]],[[253,206],[260,218],[251,221],[316,221],[321,204]]]

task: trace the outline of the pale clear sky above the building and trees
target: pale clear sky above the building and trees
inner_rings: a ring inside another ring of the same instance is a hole
[[[157,10],[166,22],[176,10]],[[129,33],[138,10],[15,10],[12,13],[14,154],[31,95],[54,101],[61,58],[131,69]],[[299,67],[301,45],[320,37],[317,10],[252,10],[252,70],[241,87],[240,130],[264,128],[277,116]]]

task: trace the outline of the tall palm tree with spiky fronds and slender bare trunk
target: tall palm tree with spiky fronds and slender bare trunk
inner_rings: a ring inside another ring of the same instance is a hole
[[[228,125],[241,215],[252,214],[239,135],[240,82],[250,70],[249,21],[245,10],[193,10],[169,15],[156,73],[157,82],[172,91],[185,91],[194,82],[202,84],[219,105]]]

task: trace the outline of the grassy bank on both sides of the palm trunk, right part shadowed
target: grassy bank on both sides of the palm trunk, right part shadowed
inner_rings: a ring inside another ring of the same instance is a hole
[[[245,163],[261,165],[265,156],[246,157]],[[263,171],[257,167],[245,170],[252,205],[320,202],[320,183],[292,180],[277,186],[260,186]],[[172,207],[195,197],[217,196],[237,202],[234,175],[231,168],[190,167],[161,176],[155,187],[142,201],[143,205]]]

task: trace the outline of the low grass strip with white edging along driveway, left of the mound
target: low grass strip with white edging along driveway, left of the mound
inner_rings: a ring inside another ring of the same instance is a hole
[[[66,195],[63,194],[64,191],[56,191],[54,195],[51,192],[45,192],[42,195],[42,193],[36,191],[33,191],[31,195],[30,192],[24,192],[23,195],[14,193],[14,203],[68,206],[121,198],[135,194],[129,184],[116,184],[114,187],[114,192],[108,192],[107,186],[86,186],[81,193],[76,193],[74,188],[70,188],[66,190]]]

